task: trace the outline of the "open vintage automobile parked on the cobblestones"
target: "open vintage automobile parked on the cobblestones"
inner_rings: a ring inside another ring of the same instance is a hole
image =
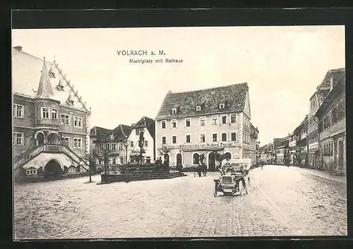
[[[249,193],[250,177],[249,168],[245,163],[232,163],[228,162],[220,170],[221,176],[214,179],[213,195],[216,197],[218,192],[223,195],[239,195],[243,196],[244,193]]]

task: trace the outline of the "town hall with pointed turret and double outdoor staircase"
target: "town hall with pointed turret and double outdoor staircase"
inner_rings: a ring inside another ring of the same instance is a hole
[[[14,47],[12,87],[15,176],[87,170],[91,111],[58,64]]]

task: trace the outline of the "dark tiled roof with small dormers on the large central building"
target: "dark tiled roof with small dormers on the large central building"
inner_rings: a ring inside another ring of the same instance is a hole
[[[191,92],[168,92],[156,119],[243,111],[248,91],[248,84],[240,83]],[[224,109],[219,107],[222,103],[225,103]],[[198,105],[201,111],[196,111]],[[177,108],[177,114],[172,114],[173,108]]]

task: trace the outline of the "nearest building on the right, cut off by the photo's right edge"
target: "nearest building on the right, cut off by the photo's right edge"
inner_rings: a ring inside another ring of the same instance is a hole
[[[321,169],[346,174],[345,70],[330,75],[328,94],[317,109]]]

